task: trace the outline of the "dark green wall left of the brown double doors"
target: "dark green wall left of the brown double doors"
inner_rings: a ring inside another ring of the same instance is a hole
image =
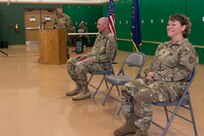
[[[25,8],[55,8],[56,5],[43,4],[0,4],[0,41],[8,41],[9,45],[25,44],[24,9]],[[12,27],[9,27],[12,24]],[[14,30],[19,25],[19,32]]]

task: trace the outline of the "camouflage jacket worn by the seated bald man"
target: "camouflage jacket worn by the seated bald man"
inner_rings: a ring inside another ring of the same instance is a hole
[[[94,62],[106,63],[112,60],[116,49],[117,43],[113,34],[104,33],[96,38],[92,51],[85,56],[92,58]]]

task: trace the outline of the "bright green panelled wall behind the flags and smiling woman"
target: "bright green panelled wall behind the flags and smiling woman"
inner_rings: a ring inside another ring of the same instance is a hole
[[[159,4],[158,4],[159,3]],[[141,52],[154,55],[157,43],[170,40],[166,34],[168,17],[181,13],[190,17],[192,23],[191,34],[188,37],[193,45],[204,47],[204,0],[139,0],[142,46]],[[103,14],[107,15],[107,4],[104,5]],[[133,51],[131,36],[132,0],[115,2],[115,25],[119,49]],[[204,64],[204,48],[196,47],[200,63]]]

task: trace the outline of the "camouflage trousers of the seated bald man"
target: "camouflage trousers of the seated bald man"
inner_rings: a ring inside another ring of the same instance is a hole
[[[78,82],[81,86],[86,86],[88,84],[87,73],[104,70],[105,65],[96,62],[84,62],[83,60],[78,61],[75,58],[71,58],[67,61],[67,71],[72,80]]]

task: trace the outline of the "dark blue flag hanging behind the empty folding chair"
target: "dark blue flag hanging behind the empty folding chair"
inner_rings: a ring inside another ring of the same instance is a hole
[[[135,50],[138,52],[138,47],[141,44],[141,30],[140,30],[140,15],[138,0],[133,0],[132,4],[132,43]]]

